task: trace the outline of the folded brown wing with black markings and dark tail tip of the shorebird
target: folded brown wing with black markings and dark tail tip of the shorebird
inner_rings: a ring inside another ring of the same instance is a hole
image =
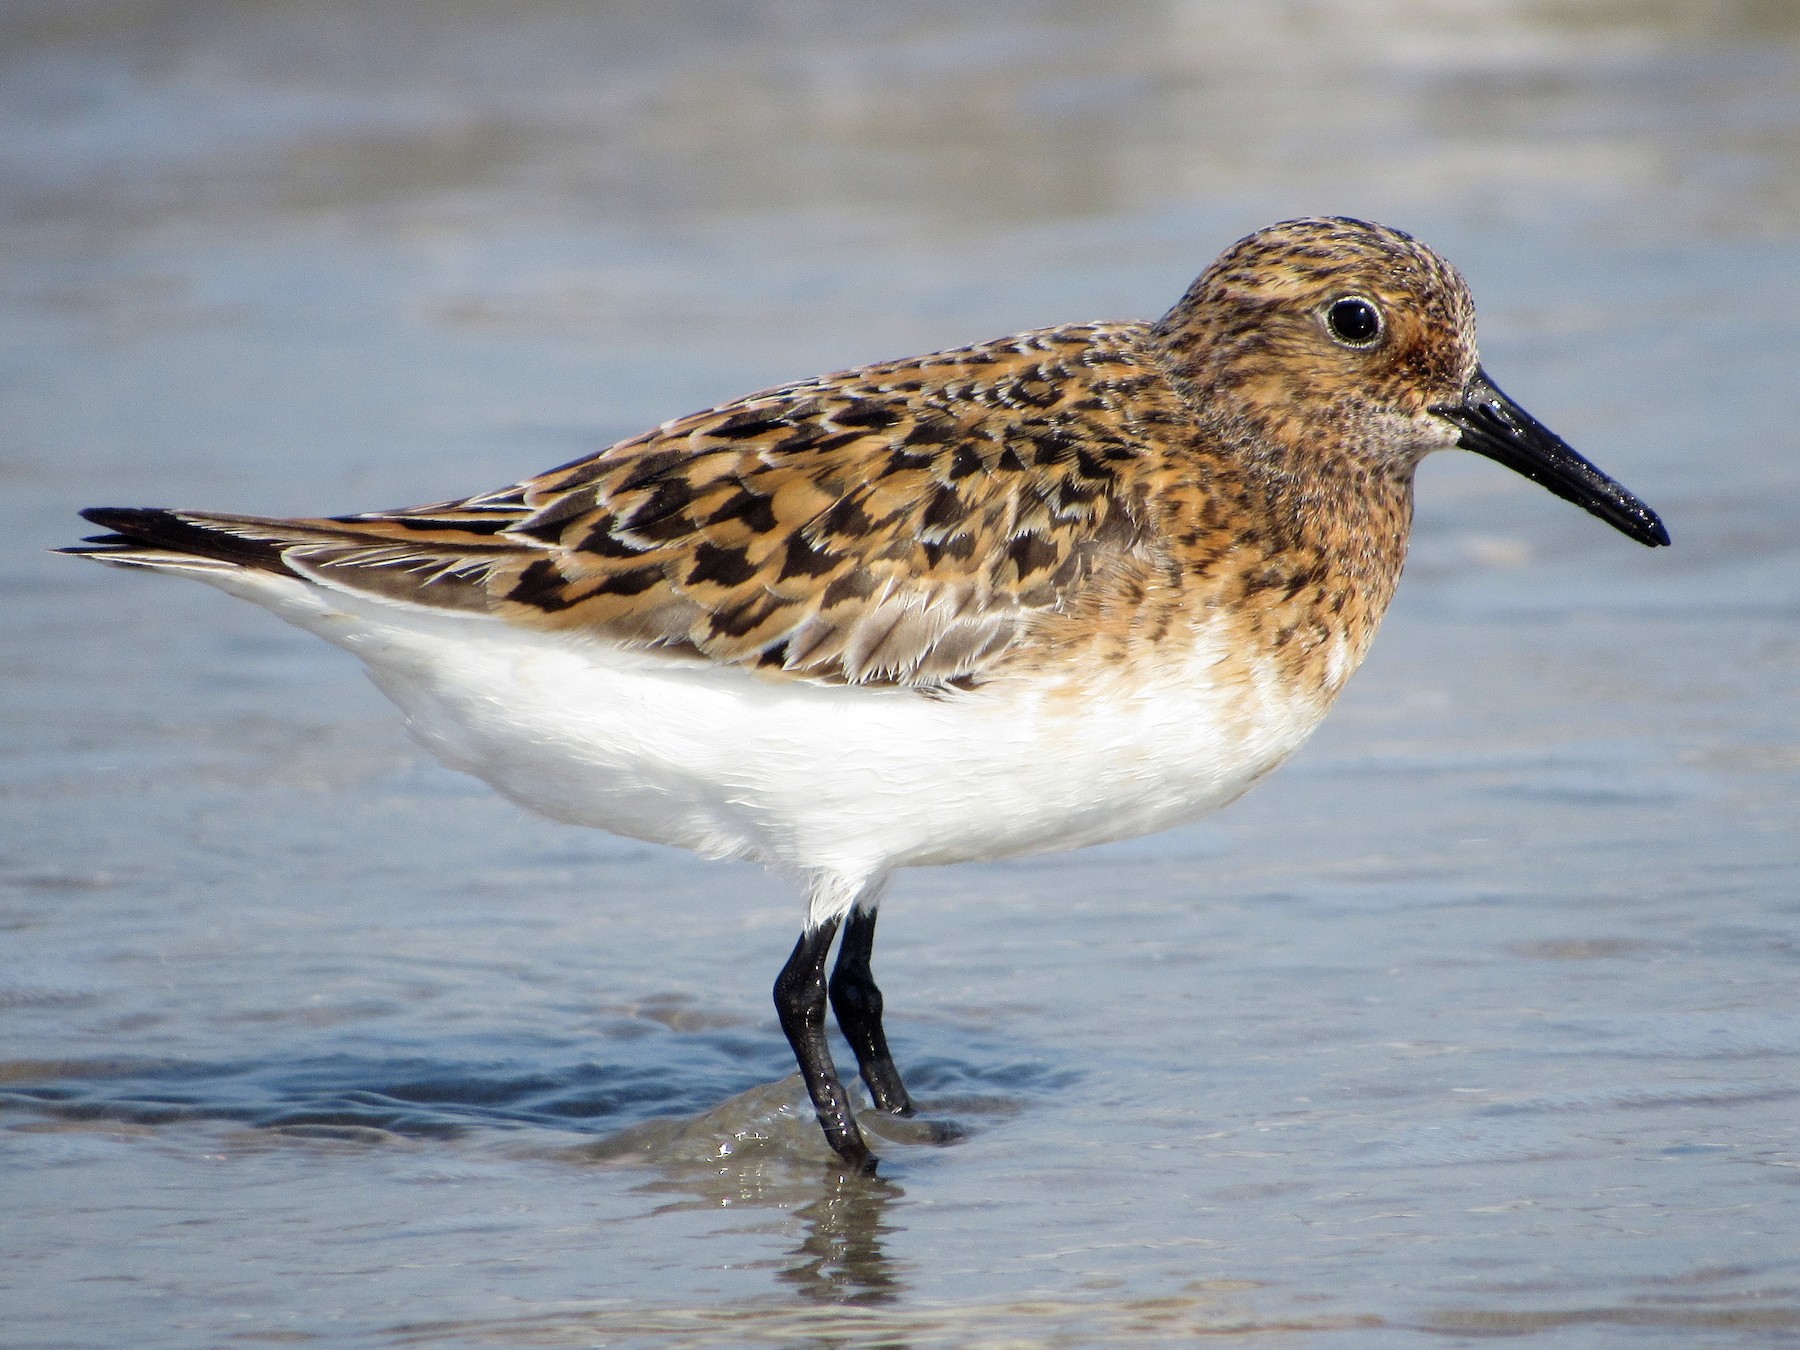
[[[1150,562],[1134,423],[1161,376],[1136,353],[1125,326],[1028,333],[751,394],[455,502],[155,529],[101,509],[119,535],[86,551],[279,567],[778,679],[970,684]]]

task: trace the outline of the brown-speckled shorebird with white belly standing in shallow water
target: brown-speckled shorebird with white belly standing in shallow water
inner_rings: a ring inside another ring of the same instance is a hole
[[[94,508],[112,533],[68,553],[337,643],[432,754],[533,810],[799,878],[776,1010],[828,1143],[873,1172],[824,1012],[875,1107],[913,1114],[869,970],[893,871],[1240,796],[1363,661],[1413,472],[1451,446],[1669,542],[1489,380],[1449,263],[1314,218],[1154,324],[799,380],[434,506]]]

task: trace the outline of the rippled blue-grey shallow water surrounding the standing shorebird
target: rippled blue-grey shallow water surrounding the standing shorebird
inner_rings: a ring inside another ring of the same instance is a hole
[[[1800,18],[869,11],[0,11],[7,1345],[1800,1336]],[[787,1076],[783,886],[535,821],[342,653],[43,553],[1152,315],[1319,209],[1449,254],[1676,547],[1431,463],[1265,787],[904,875],[889,1031],[963,1138],[871,1121],[877,1183]]]

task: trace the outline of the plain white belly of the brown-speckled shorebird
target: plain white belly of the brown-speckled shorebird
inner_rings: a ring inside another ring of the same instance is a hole
[[[544,815],[808,875],[1163,830],[1242,794],[1325,711],[1273,677],[1222,684],[1206,639],[1154,680],[1069,673],[932,698],[382,601],[351,612],[274,578],[227,589],[355,652],[427,749]]]

